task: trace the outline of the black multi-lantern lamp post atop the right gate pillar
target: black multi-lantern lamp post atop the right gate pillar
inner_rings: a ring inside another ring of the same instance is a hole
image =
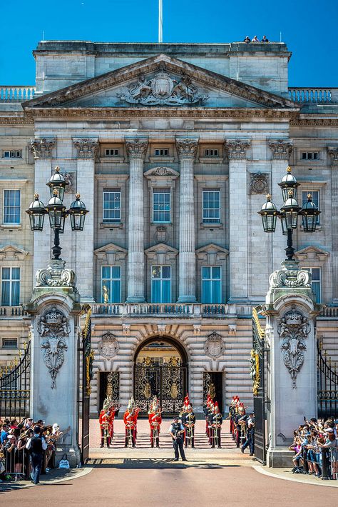
[[[284,204],[280,211],[277,210],[275,204],[271,202],[271,196],[267,195],[267,201],[263,204],[262,209],[258,211],[262,216],[262,224],[265,232],[275,232],[277,216],[282,222],[282,233],[287,236],[287,261],[292,261],[295,249],[292,247],[292,232],[297,229],[298,216],[302,216],[304,232],[314,232],[316,230],[317,216],[320,211],[312,202],[311,194],[307,195],[307,203],[301,208],[297,203],[297,180],[291,174],[291,167],[287,167],[287,174],[278,184],[282,189]]]

